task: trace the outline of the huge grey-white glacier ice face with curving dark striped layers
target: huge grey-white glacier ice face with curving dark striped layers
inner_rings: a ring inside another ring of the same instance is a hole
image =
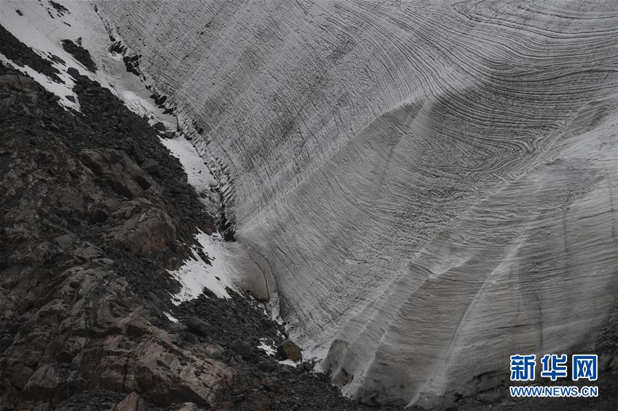
[[[229,175],[344,392],[591,349],[618,287],[615,1],[95,1]]]

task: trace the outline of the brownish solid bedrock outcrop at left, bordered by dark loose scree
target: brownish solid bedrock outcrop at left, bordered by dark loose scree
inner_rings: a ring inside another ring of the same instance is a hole
[[[169,216],[179,210],[166,204],[164,181],[155,183],[126,153],[96,147],[96,133],[84,139],[91,148],[77,152],[60,127],[89,134],[87,121],[49,104],[34,80],[1,73],[0,92],[11,109],[0,146],[0,403],[32,409],[84,390],[136,391],[151,403],[221,402],[237,372],[213,358],[217,344],[179,347],[177,334],[157,322],[161,314],[153,316],[163,308],[153,300],[162,300],[144,298],[148,289],[164,297],[173,281],[132,257],[165,261],[172,248],[182,256],[180,224]],[[46,131],[52,118],[60,126]],[[150,198],[141,198],[147,209],[123,209],[137,195]],[[150,285],[127,280],[140,272]]]

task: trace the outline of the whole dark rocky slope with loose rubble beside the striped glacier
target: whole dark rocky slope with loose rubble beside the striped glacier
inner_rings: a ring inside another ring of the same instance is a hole
[[[146,117],[1,26],[0,54],[68,73],[80,108],[0,64],[1,410],[355,407],[258,349],[286,331],[250,296],[170,302],[168,269],[223,227]]]

